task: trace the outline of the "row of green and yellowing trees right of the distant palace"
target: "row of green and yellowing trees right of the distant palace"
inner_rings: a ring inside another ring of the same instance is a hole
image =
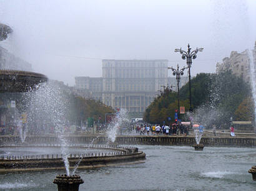
[[[242,78],[235,77],[231,71],[215,73],[199,73],[191,80],[192,108],[195,118],[203,118],[208,114],[211,123],[227,123],[230,117],[235,121],[254,120],[254,101],[250,85]],[[144,120],[147,123],[162,124],[171,118],[177,108],[177,92],[165,89],[160,96],[145,109]],[[189,83],[180,88],[180,106],[189,112]],[[195,115],[197,113],[197,116]],[[191,113],[190,113],[191,114]],[[189,120],[189,114],[180,114],[183,121]],[[205,119],[207,121],[207,119]]]

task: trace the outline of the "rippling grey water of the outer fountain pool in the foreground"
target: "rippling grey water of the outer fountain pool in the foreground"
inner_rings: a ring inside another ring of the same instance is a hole
[[[147,155],[142,164],[78,169],[80,190],[254,190],[248,169],[256,148],[137,146]],[[0,174],[0,190],[56,190],[52,180],[64,170]]]

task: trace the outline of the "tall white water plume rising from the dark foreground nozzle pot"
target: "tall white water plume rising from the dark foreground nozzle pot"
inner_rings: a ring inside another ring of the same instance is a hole
[[[68,142],[65,127],[67,123],[67,104],[62,91],[52,83],[43,83],[36,91],[24,93],[24,109],[27,113],[27,123],[32,134],[57,135],[61,142],[61,153],[69,175],[67,157]]]

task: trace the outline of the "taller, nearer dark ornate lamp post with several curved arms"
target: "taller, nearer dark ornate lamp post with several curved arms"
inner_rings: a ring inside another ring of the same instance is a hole
[[[175,49],[174,52],[180,52],[182,54],[182,59],[187,59],[187,67],[189,68],[189,111],[192,111],[192,101],[191,101],[191,82],[190,82],[190,68],[192,65],[192,59],[197,58],[197,52],[202,52],[204,49],[195,49],[191,52],[190,45],[187,45],[187,52],[185,50]]]

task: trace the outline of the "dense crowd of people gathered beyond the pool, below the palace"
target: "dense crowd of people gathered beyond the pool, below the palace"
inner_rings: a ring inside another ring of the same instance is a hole
[[[172,124],[162,125],[160,124],[137,124],[135,127],[136,133],[143,135],[178,135],[183,134],[184,136],[189,134],[189,126],[185,126],[184,124]]]

